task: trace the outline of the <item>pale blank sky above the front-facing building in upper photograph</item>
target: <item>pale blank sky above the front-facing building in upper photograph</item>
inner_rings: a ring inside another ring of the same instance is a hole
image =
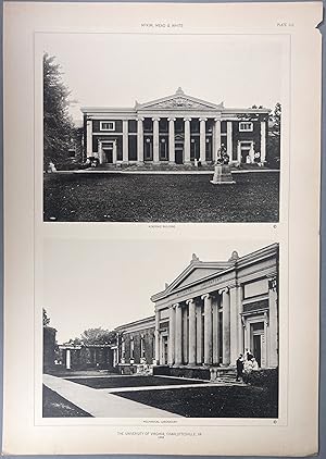
[[[283,99],[284,41],[273,35],[42,34],[71,89],[71,112],[83,107],[134,107],[185,94],[225,107],[272,108]]]

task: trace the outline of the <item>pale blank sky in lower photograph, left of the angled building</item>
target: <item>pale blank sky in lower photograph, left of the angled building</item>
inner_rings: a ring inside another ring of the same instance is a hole
[[[272,241],[273,243],[273,241]],[[150,297],[162,291],[190,263],[227,261],[271,240],[47,239],[43,252],[43,307],[59,343],[85,330],[113,330],[154,313]]]

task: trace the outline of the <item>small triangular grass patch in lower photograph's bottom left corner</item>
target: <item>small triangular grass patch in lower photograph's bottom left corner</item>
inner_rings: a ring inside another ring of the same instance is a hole
[[[43,385],[43,418],[91,418],[91,414]]]

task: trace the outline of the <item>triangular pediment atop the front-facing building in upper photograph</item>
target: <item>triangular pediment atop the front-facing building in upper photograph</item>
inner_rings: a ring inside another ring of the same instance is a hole
[[[178,88],[173,96],[163,97],[162,99],[152,100],[146,103],[137,103],[137,110],[218,110],[223,108],[223,103],[218,106],[205,100],[197,99],[185,95],[181,88]]]

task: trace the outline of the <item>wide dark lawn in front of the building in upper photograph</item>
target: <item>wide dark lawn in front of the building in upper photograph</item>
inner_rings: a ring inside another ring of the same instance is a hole
[[[45,221],[277,222],[279,173],[210,175],[45,174]]]

